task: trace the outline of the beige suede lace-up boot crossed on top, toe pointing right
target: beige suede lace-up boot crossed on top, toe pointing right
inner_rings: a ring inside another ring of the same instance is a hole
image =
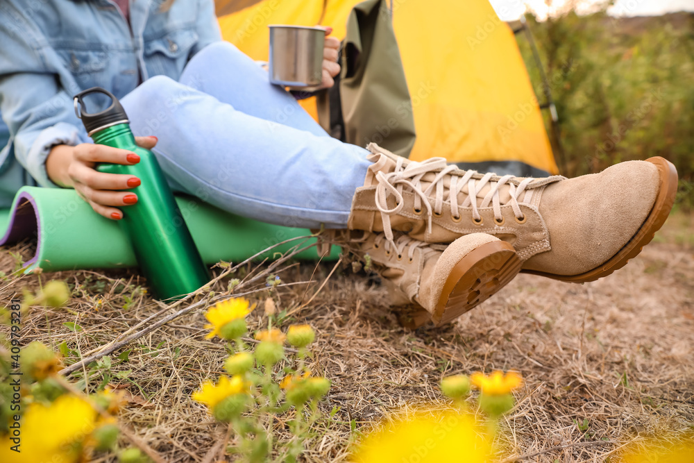
[[[575,283],[607,276],[641,252],[677,192],[675,166],[663,158],[571,179],[518,178],[367,148],[374,164],[355,193],[349,228],[387,238],[400,230],[430,243],[489,233],[513,244],[521,271]]]

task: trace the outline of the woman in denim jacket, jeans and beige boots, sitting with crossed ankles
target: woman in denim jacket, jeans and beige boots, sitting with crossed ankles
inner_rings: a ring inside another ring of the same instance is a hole
[[[0,6],[5,191],[73,187],[104,217],[127,214],[139,178],[94,165],[132,165],[137,155],[92,144],[74,113],[72,95],[98,85],[121,99],[174,188],[273,224],[355,230],[338,234],[437,321],[496,292],[521,262],[563,280],[607,275],[672,206],[677,176],[661,158],[571,180],[521,179],[332,139],[221,42],[212,0],[30,3]],[[338,46],[326,36],[323,87],[339,72]]]

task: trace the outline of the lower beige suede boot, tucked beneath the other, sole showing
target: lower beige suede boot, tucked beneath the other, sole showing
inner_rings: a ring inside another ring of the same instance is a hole
[[[486,301],[521,269],[513,246],[484,233],[448,245],[427,244],[402,233],[396,233],[394,241],[383,233],[349,230],[329,230],[324,235],[382,277],[391,305],[421,305],[426,318],[439,325]]]

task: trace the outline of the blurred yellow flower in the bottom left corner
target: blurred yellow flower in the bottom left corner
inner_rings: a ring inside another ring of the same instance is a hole
[[[0,437],[1,462],[77,462],[94,430],[96,410],[82,398],[64,394],[50,405],[31,403],[22,418],[19,450],[12,435]]]

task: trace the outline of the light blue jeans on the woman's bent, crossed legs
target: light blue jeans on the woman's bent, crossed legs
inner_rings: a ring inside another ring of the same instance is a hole
[[[282,226],[346,228],[368,151],[330,137],[255,61],[218,42],[180,81],[155,76],[122,100],[175,189]]]

